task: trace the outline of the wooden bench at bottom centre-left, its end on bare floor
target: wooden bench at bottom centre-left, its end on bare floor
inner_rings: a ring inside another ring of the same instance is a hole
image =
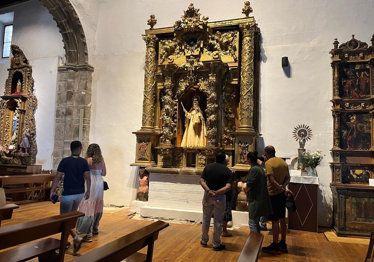
[[[151,262],[154,241],[157,240],[160,230],[168,226],[169,223],[156,221],[72,261],[117,262],[125,260],[126,262]],[[137,252],[145,246],[148,246],[147,254]]]

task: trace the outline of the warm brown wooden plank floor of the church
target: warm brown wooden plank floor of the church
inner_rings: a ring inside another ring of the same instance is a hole
[[[2,222],[2,226],[13,225],[16,223],[27,222],[31,220],[41,219],[59,214],[59,204],[53,205],[50,202],[33,202],[30,204],[22,204],[18,210],[15,210],[10,220]],[[122,237],[132,231],[144,227],[152,223],[148,220],[136,220],[128,216],[129,211],[126,208],[115,210],[110,213],[104,213],[99,226],[99,234],[93,237],[92,243],[83,243],[78,255],[101,247],[110,241]],[[271,228],[268,223],[268,228]],[[226,244],[226,250],[212,250],[212,232],[209,230],[210,240],[208,247],[200,246],[201,225],[191,224],[173,224],[159,234],[158,240],[154,244],[154,262],[227,262],[236,261],[244,246],[246,238],[249,234],[248,226],[241,226],[234,229],[233,236],[221,238],[223,244]],[[264,234],[263,246],[272,242],[272,236]],[[58,235],[55,236],[59,238]],[[71,238],[70,238],[71,241]],[[367,245],[329,242],[323,233],[311,234],[297,231],[289,231],[286,238],[289,253],[282,253],[275,256],[260,252],[260,262],[335,262],[347,261],[356,262],[364,261]],[[141,250],[142,253],[146,249]],[[65,261],[74,259],[73,247],[71,246],[66,254]],[[37,262],[37,259],[31,260]]]

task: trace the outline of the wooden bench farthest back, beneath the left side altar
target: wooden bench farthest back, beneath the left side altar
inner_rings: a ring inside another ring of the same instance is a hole
[[[1,188],[4,189],[5,194],[16,194],[30,191],[45,190],[46,198],[49,198],[50,185],[44,185],[45,182],[53,181],[56,174],[32,174],[21,176],[0,176]],[[30,186],[34,183],[42,183],[42,186]],[[26,186],[15,187],[10,185],[22,184]],[[13,199],[14,200],[14,199]]]

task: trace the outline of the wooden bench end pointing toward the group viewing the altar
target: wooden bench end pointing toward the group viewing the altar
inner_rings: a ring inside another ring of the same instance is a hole
[[[264,240],[264,235],[251,231],[245,241],[242,252],[240,252],[237,262],[255,262],[258,260],[258,255],[260,254],[262,241]]]

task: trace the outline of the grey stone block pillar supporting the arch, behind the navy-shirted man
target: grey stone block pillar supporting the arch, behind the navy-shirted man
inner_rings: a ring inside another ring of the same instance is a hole
[[[58,68],[53,170],[62,158],[71,155],[71,141],[79,139],[79,113],[83,109],[83,151],[89,144],[91,122],[91,65],[67,65]]]

